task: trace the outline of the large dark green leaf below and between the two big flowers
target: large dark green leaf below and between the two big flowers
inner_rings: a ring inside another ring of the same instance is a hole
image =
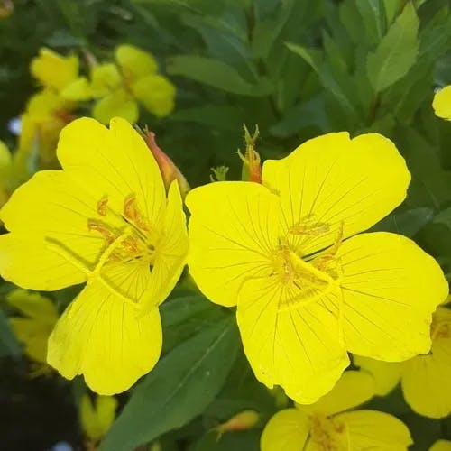
[[[129,451],[195,418],[221,390],[238,349],[232,318],[174,348],[133,391],[100,450]]]

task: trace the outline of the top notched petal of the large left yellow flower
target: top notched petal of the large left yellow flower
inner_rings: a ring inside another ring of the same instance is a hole
[[[123,214],[125,198],[136,196],[151,226],[161,221],[166,191],[160,169],[143,138],[124,119],[112,119],[109,130],[86,117],[73,121],[60,133],[58,159],[97,201],[107,196],[115,214]]]

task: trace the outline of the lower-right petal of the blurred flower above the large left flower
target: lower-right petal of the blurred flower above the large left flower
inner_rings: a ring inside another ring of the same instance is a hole
[[[164,117],[174,109],[175,87],[161,75],[140,78],[132,86],[133,95],[153,115]]]

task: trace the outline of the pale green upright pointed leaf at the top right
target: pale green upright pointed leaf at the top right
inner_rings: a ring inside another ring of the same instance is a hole
[[[408,3],[382,38],[376,50],[368,55],[366,69],[376,93],[404,77],[417,59],[419,18]]]

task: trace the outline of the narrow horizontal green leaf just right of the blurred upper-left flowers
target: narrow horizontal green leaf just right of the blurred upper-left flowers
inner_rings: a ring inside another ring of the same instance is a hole
[[[170,75],[179,75],[223,89],[226,92],[242,96],[266,96],[272,91],[272,85],[266,78],[252,84],[244,80],[239,73],[220,60],[196,55],[180,55],[168,60]]]

